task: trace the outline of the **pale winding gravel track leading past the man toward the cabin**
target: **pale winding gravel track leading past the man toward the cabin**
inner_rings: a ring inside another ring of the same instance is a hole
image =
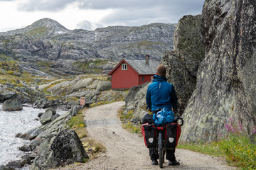
[[[86,164],[62,169],[160,169],[151,165],[143,137],[122,128],[117,117],[117,111],[122,106],[124,102],[116,102],[87,109],[85,121],[88,133],[105,145],[107,152]],[[164,169],[235,169],[226,166],[219,158],[183,149],[176,149],[176,159],[180,166],[167,166],[165,163]]]

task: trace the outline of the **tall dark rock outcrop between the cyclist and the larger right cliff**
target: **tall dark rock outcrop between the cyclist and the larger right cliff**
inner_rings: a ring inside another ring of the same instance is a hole
[[[176,89],[180,115],[196,87],[196,74],[203,58],[201,15],[183,16],[174,31],[174,51],[165,52],[161,60],[168,81]]]

